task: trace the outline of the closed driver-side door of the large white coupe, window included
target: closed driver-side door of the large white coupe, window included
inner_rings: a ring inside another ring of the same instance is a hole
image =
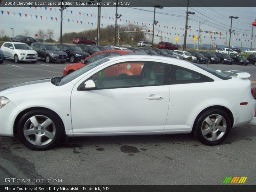
[[[133,74],[118,76],[120,73],[112,70],[116,65],[126,66]],[[75,85],[71,93],[73,133],[164,131],[170,98],[170,65],[161,60],[138,60],[116,61],[108,66]],[[96,88],[79,90],[89,79]]]

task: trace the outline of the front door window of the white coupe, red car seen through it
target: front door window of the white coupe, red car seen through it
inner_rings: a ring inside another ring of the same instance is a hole
[[[97,89],[162,85],[165,64],[152,61],[117,63],[94,74]]]

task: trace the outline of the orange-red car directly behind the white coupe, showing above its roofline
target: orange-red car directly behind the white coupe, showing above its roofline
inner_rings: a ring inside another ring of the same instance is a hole
[[[69,65],[64,68],[63,71],[63,76],[68,75],[69,73],[72,73],[73,71],[76,71],[79,68],[82,68],[96,60],[102,59],[104,57],[108,57],[111,55],[134,55],[134,54],[140,54],[140,55],[145,55],[142,52],[138,51],[131,51],[131,50],[106,50],[106,51],[101,51],[101,52],[96,52],[89,57],[82,59],[81,62],[75,63],[72,65]],[[128,75],[128,74],[127,74]]]

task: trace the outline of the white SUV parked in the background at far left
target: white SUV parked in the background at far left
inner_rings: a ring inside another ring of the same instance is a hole
[[[13,59],[15,63],[20,61],[35,63],[38,57],[37,52],[32,50],[28,44],[20,42],[5,42],[1,46],[1,50],[4,52],[5,58]]]

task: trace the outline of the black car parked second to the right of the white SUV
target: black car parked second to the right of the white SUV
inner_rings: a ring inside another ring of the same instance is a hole
[[[80,61],[82,55],[90,56],[89,53],[82,51],[80,47],[72,44],[56,44],[56,46],[60,49],[60,51],[64,51],[68,54],[69,61],[71,63],[75,63],[76,61]]]

